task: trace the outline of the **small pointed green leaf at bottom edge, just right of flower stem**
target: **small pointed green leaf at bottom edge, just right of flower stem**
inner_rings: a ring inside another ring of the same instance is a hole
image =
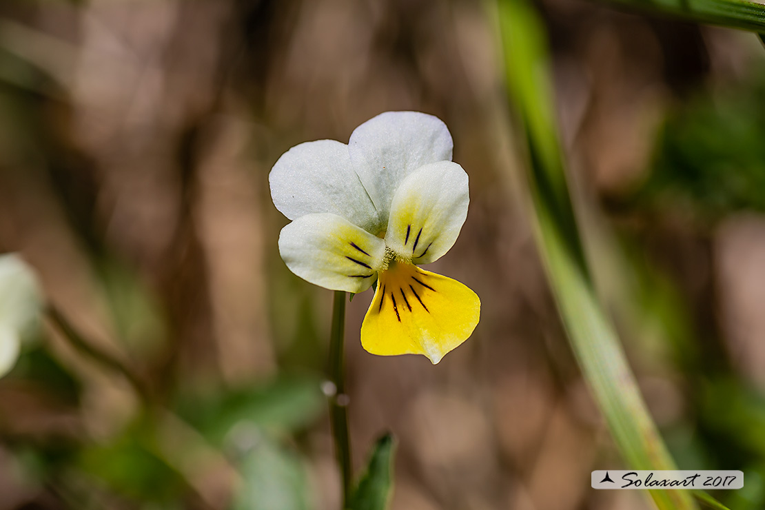
[[[375,443],[366,471],[350,494],[348,510],[385,510],[392,485],[394,441],[391,434]]]

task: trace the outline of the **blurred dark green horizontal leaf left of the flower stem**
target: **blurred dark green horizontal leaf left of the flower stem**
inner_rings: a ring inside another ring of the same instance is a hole
[[[319,378],[280,375],[268,384],[252,388],[187,396],[177,405],[177,413],[208,440],[222,445],[237,424],[252,424],[265,430],[295,430],[314,421],[324,407]]]

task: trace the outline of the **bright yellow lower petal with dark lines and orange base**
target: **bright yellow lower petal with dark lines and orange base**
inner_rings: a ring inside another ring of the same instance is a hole
[[[422,354],[433,364],[463,343],[480,317],[480,299],[459,281],[392,261],[361,325],[372,354]]]

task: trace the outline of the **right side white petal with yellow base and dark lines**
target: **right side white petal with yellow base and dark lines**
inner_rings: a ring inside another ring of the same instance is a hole
[[[448,252],[467,218],[467,174],[451,161],[432,163],[406,177],[390,210],[386,244],[428,264]]]

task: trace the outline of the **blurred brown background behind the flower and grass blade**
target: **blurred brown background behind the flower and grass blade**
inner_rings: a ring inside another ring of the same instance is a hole
[[[639,492],[589,489],[592,469],[622,464],[535,252],[487,7],[0,4],[0,251],[21,251],[50,303],[149,395],[46,320],[0,381],[0,508],[229,508],[248,476],[226,444],[247,417],[220,446],[177,401],[319,381],[327,351],[330,291],[279,258],[270,168],[402,109],[443,119],[470,175],[467,223],[429,269],[483,310],[431,366],[364,352],[369,293],[349,305],[356,469],[391,430],[397,510],[649,508]],[[538,7],[588,253],[649,408],[681,467],[753,473],[729,504],[761,508],[763,48],[597,2]],[[308,508],[329,510],[339,479],[316,398],[269,437],[303,473]],[[150,432],[136,425],[146,409]]]

